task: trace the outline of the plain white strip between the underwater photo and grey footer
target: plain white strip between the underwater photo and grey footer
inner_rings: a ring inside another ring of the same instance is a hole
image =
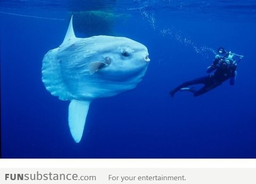
[[[0,159],[0,168],[256,168],[256,159]]]

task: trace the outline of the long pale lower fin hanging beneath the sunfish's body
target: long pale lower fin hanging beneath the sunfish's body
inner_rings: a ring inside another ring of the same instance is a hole
[[[91,101],[71,100],[68,107],[68,125],[75,142],[80,142]]]

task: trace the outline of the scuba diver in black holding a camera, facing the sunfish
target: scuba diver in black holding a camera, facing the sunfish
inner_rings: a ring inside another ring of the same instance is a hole
[[[217,54],[212,65],[207,67],[206,72],[209,73],[209,75],[182,83],[170,91],[171,96],[174,97],[174,94],[177,91],[188,91],[192,92],[194,97],[197,97],[198,95],[204,94],[221,85],[222,82],[226,81],[227,79],[230,79],[230,85],[234,85],[237,75],[237,64],[241,61],[243,55],[227,52],[222,47],[218,49],[218,53],[220,55]],[[214,72],[212,73],[212,71]],[[196,84],[204,84],[204,86],[201,89],[196,90],[194,86],[191,86]]]

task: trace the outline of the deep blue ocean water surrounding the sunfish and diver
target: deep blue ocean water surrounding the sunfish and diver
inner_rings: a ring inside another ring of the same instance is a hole
[[[69,102],[45,89],[41,67],[70,12],[90,10],[122,14],[111,35],[143,43],[151,61],[137,88],[91,103],[75,143]],[[1,0],[2,157],[256,158],[255,21],[255,1]],[[236,84],[172,99],[173,87],[206,75],[219,46],[244,55]]]

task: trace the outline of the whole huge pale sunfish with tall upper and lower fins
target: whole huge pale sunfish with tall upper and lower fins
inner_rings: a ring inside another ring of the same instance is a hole
[[[129,38],[77,38],[71,18],[63,43],[44,56],[42,81],[52,95],[71,101],[68,123],[76,142],[91,101],[136,87],[149,61],[147,47]]]

